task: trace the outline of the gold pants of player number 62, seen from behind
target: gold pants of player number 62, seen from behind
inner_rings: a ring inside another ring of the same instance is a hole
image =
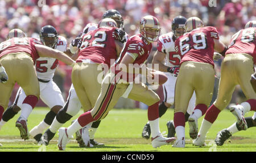
[[[101,64],[96,63],[78,62],[73,67],[72,83],[84,111],[92,109],[100,95],[101,72]]]

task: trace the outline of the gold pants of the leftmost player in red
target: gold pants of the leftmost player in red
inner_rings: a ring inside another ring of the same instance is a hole
[[[0,83],[0,106],[8,106],[9,98],[15,82],[24,90],[26,95],[39,98],[40,89],[32,58],[27,53],[11,53],[0,58],[6,70],[8,81]]]

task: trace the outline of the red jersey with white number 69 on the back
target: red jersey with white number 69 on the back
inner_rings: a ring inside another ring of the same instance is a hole
[[[201,27],[179,37],[175,50],[181,55],[180,65],[185,61],[204,62],[214,66],[214,40],[219,39],[215,27]]]

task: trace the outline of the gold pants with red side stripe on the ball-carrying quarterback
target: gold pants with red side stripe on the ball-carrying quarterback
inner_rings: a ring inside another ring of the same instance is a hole
[[[97,99],[96,105],[91,110],[94,120],[104,119],[129,86],[129,83],[124,83],[122,80],[118,83],[111,83],[110,81],[112,81],[113,78],[114,74],[108,73],[101,84],[100,96]],[[158,95],[148,89],[143,83],[134,83],[128,98],[143,102],[148,106],[160,100]]]

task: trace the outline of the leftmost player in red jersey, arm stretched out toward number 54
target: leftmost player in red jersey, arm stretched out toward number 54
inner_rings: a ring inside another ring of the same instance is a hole
[[[24,91],[24,97],[23,101],[19,102],[22,111],[15,125],[19,129],[22,139],[26,140],[29,136],[27,118],[38,102],[40,95],[39,79],[34,68],[36,60],[39,57],[51,57],[72,66],[75,62],[63,52],[46,47],[42,45],[41,41],[24,37],[23,34],[17,34],[17,32],[22,31],[11,30],[8,35],[9,39],[0,44],[0,61],[5,66],[6,73],[9,74],[9,80],[4,84],[0,83],[0,91],[5,92],[5,94],[0,95],[0,115],[2,120],[2,111],[7,107],[11,91],[15,82],[17,82]],[[9,109],[6,114],[7,119],[11,119],[16,112]],[[3,124],[3,121],[1,124]]]

